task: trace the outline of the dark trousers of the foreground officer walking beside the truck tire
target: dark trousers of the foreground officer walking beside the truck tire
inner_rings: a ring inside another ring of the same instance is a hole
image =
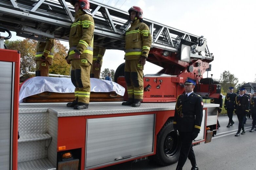
[[[192,132],[179,132],[179,135],[181,138],[181,150],[177,166],[183,167],[187,158],[193,166],[196,164],[196,157],[192,147]]]

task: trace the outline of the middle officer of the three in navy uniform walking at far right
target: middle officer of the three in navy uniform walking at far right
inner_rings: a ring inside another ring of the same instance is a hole
[[[243,130],[241,134],[245,134],[245,128],[244,128],[244,117],[249,112],[249,106],[250,106],[250,100],[248,96],[244,95],[244,88],[239,89],[239,96],[235,99],[235,113],[237,115],[239,125],[238,125],[238,131],[235,134],[235,136],[240,136],[241,129]]]

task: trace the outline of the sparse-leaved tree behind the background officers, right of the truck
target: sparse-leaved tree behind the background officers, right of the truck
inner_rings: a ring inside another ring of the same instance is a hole
[[[234,74],[231,74],[229,71],[224,71],[220,77],[220,84],[223,88],[223,91],[227,91],[229,86],[236,87],[238,83],[238,78]],[[234,89],[235,91],[236,89]]]

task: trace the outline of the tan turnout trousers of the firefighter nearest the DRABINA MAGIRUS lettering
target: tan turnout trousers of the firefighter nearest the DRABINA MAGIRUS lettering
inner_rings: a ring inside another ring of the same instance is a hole
[[[138,60],[125,60],[125,81],[130,99],[143,100],[143,69]]]

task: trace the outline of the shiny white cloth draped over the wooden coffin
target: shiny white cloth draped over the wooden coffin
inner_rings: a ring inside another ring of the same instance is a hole
[[[125,88],[121,85],[107,80],[90,78],[91,92],[115,91],[124,96]],[[39,94],[45,91],[56,93],[74,93],[75,86],[70,78],[64,77],[33,77],[24,82],[19,91],[19,102],[28,96]]]

